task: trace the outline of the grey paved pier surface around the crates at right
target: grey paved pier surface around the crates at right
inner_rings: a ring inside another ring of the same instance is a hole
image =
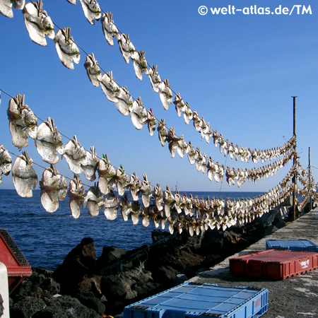
[[[264,250],[265,241],[269,239],[307,239],[318,245],[318,209],[307,213],[272,235],[264,237],[239,254]],[[202,272],[190,281],[267,288],[270,300],[269,311],[263,317],[318,318],[318,270],[288,278],[285,281],[247,281],[234,278],[230,274],[228,265],[228,259],[225,259],[210,271]]]

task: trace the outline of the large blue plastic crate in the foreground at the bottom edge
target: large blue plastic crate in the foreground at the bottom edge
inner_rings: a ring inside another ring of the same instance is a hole
[[[124,309],[124,318],[257,318],[269,309],[269,291],[183,283]]]

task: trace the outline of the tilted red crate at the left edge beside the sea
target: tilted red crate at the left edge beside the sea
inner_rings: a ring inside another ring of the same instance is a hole
[[[23,279],[31,276],[32,269],[28,261],[18,249],[16,243],[6,230],[0,229],[0,262],[8,271],[8,287],[10,293],[22,283]]]

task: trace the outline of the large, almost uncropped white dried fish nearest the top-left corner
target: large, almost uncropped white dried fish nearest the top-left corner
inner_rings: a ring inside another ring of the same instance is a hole
[[[43,10],[42,0],[25,4],[23,17],[25,27],[33,42],[45,47],[47,46],[47,39],[45,37],[49,37],[51,40],[54,39],[54,24],[47,15],[47,11]]]

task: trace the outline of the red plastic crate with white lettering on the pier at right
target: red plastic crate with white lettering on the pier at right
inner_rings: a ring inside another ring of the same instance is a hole
[[[268,249],[230,259],[232,275],[281,280],[318,268],[318,253]]]

